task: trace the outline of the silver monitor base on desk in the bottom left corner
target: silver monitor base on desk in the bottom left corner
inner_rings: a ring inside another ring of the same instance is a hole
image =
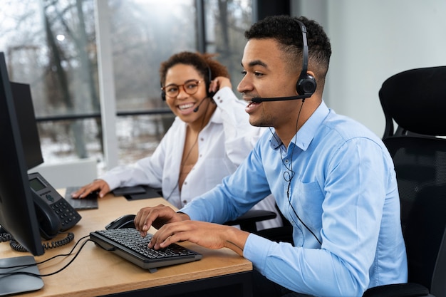
[[[4,267],[19,265],[28,266],[4,269]],[[33,256],[0,259],[0,273],[14,273],[18,271],[40,274]],[[36,291],[41,288],[43,288],[43,281],[40,276],[29,276],[26,274],[0,275],[0,296]]]

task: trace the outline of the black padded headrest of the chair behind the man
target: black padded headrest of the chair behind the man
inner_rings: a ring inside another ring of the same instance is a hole
[[[379,98],[386,120],[415,133],[446,135],[446,66],[395,74],[384,81]]]

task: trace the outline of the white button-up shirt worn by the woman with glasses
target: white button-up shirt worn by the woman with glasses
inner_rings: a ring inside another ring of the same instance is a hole
[[[138,184],[161,187],[165,199],[179,209],[214,188],[223,177],[237,169],[265,131],[249,124],[249,115],[244,111],[245,103],[237,99],[231,88],[219,90],[214,95],[214,101],[217,109],[206,127],[199,132],[198,160],[183,182],[181,192],[178,177],[187,124],[180,118],[175,118],[150,157],[130,166],[115,167],[99,178],[108,183],[110,190]],[[277,212],[272,195],[252,209]],[[276,226],[281,226],[279,214],[276,219],[257,223],[258,229]]]

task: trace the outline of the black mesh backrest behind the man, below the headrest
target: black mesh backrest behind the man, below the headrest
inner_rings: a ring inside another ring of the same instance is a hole
[[[446,269],[446,246],[440,249],[446,228],[446,140],[398,136],[384,142],[398,178],[408,281],[430,290],[432,286],[442,286],[442,295],[434,295],[446,296],[446,278],[432,285],[435,266]],[[437,264],[440,253],[445,259]]]

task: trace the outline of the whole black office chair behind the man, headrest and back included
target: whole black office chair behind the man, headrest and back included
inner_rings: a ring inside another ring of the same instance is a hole
[[[446,66],[395,74],[379,91],[395,164],[408,283],[363,296],[446,296]],[[398,125],[394,132],[393,122]]]

